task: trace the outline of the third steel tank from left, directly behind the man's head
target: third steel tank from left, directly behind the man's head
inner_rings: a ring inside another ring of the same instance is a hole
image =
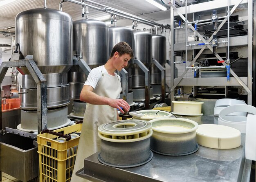
[[[125,26],[110,26],[109,27],[109,55],[111,54],[112,48],[118,42],[127,42],[131,47],[132,51],[134,51],[134,35],[132,29],[125,27]],[[125,68],[128,72],[128,90],[132,90],[132,75],[131,71],[129,70],[129,66],[134,60],[134,58],[130,59],[128,62],[128,66]],[[122,75],[118,72],[118,75],[121,77],[121,86],[122,85]]]

